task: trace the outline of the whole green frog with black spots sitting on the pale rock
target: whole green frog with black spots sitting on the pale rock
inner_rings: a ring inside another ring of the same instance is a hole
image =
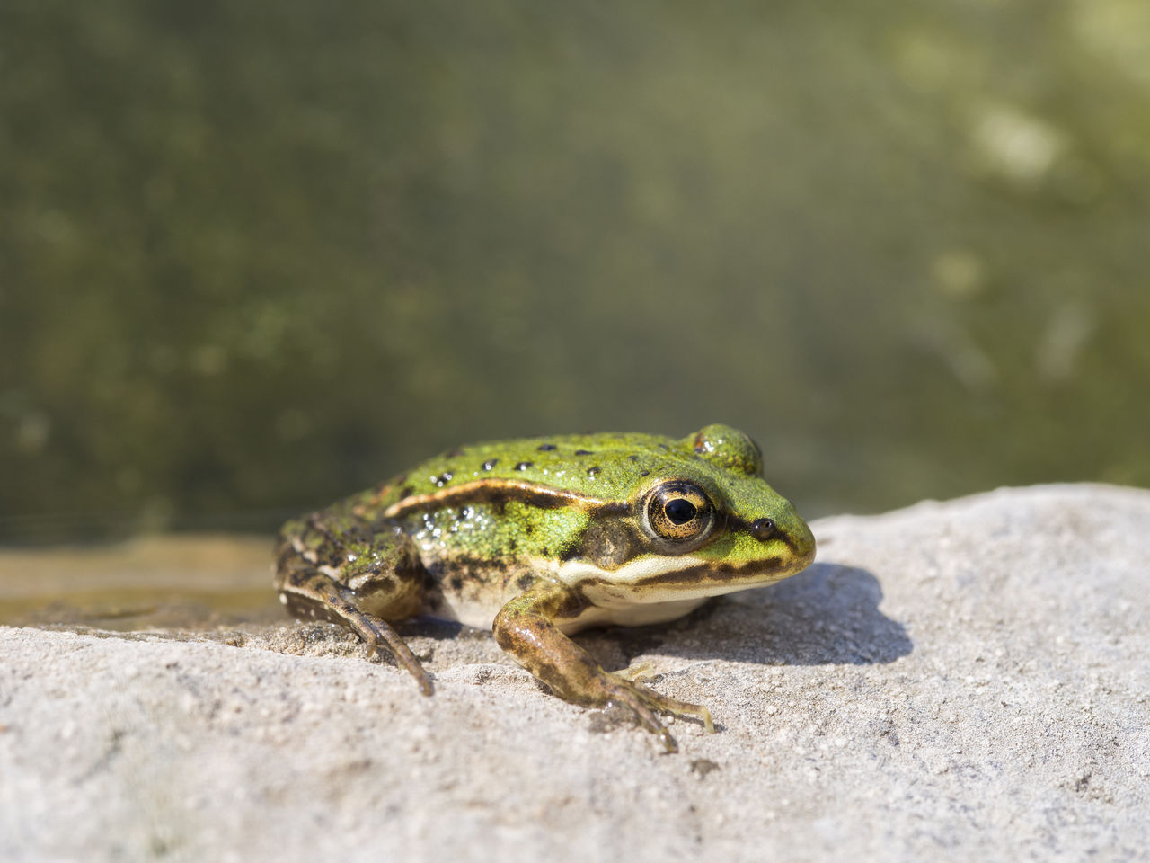
[[[662,717],[713,733],[710,710],[642,669],[607,671],[570,636],[675,620],[806,568],[814,536],[762,468],[759,446],[724,425],[460,446],[285,524],[275,588],[290,613],[347,627],[424,695],[431,677],[392,624],[490,629],[551,693],[616,705],[674,753]]]

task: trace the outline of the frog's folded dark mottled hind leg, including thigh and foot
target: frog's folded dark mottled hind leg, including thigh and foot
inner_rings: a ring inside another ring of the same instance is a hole
[[[368,656],[388,650],[431,695],[431,679],[412,649],[381,614],[400,619],[417,609],[423,582],[411,540],[398,532],[340,533],[325,524],[327,513],[290,522],[276,550],[275,586],[297,617],[320,617],[343,624],[367,644]],[[373,613],[374,612],[374,613]]]

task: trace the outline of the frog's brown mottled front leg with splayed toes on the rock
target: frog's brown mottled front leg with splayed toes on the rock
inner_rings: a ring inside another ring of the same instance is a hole
[[[691,716],[711,734],[711,711],[661,695],[643,683],[605,671],[583,648],[568,639],[558,624],[581,608],[578,596],[560,585],[535,587],[508,602],[496,616],[496,641],[516,662],[565,701],[586,707],[620,704],[629,709],[647,731],[657,734],[668,753],[678,750],[675,739],[656,711]]]

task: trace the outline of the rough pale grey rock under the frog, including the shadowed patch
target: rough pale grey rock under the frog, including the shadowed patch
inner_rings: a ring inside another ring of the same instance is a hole
[[[0,858],[1094,861],[1150,848],[1150,491],[814,525],[819,562],[581,636],[711,707],[677,755],[413,626],[0,628]]]

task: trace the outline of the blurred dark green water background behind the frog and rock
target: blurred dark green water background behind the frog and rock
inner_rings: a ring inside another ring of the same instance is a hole
[[[736,425],[1150,486],[1145,0],[0,6],[0,541]]]

